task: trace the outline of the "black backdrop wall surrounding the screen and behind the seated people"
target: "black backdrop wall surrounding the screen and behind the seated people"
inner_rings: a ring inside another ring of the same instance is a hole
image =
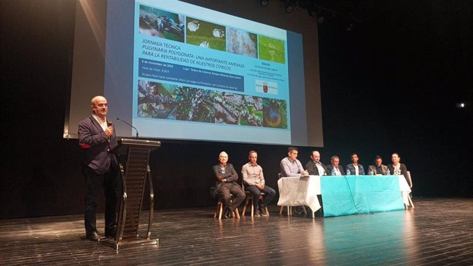
[[[350,31],[343,16],[319,25],[322,161],[337,154],[346,165],[357,152],[369,165],[398,152],[414,196],[472,197],[473,2],[356,3],[362,23]],[[0,1],[0,10],[0,219],[82,213],[81,152],[62,138],[75,1]],[[155,208],[212,205],[218,153],[239,171],[250,149],[277,188],[287,147],[163,141],[151,154]],[[300,148],[303,163],[311,149]]]

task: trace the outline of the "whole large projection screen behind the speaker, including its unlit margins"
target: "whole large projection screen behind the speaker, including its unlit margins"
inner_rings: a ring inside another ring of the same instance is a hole
[[[104,95],[118,136],[322,147],[313,20],[186,1],[77,2],[64,138]]]

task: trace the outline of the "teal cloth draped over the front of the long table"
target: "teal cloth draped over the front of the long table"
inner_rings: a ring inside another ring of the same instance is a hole
[[[404,210],[398,176],[321,176],[324,217]]]

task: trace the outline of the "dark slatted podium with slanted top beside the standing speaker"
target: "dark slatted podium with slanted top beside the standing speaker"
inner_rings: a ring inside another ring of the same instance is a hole
[[[117,218],[117,235],[114,239],[103,239],[99,243],[114,247],[115,250],[137,245],[158,245],[157,238],[151,239],[154,193],[149,170],[149,153],[160,145],[159,141],[133,138],[119,140],[119,149],[126,150],[126,167],[119,162],[123,195]],[[149,184],[149,219],[146,235],[140,236],[138,229],[147,183]]]

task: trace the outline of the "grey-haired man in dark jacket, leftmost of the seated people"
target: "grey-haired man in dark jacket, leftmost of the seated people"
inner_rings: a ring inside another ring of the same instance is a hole
[[[237,184],[238,173],[228,162],[228,154],[221,152],[219,154],[219,164],[212,167],[217,184],[215,184],[215,191],[217,196],[221,198],[223,203],[225,218],[230,217],[232,212],[245,200],[245,192],[241,186]],[[230,193],[233,195],[233,201],[230,202]]]

